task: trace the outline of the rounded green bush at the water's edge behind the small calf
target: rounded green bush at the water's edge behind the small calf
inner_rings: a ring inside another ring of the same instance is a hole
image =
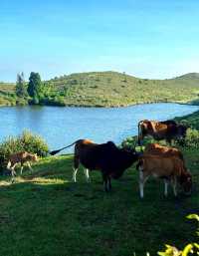
[[[23,150],[46,156],[49,147],[41,136],[27,130],[17,137],[10,136],[0,144],[0,170],[5,168],[10,154]]]

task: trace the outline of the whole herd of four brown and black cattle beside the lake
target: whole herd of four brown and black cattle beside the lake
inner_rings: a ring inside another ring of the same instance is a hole
[[[111,189],[110,179],[119,178],[125,169],[136,162],[139,171],[139,191],[143,197],[143,187],[147,178],[151,175],[164,180],[164,195],[167,196],[168,184],[173,186],[174,195],[177,195],[177,184],[181,186],[186,194],[191,193],[192,177],[186,168],[182,152],[171,146],[172,139],[184,138],[187,127],[178,125],[174,121],[153,122],[144,120],[138,123],[138,144],[142,144],[145,136],[152,136],[156,140],[166,139],[170,146],[158,143],[148,143],[144,150],[119,148],[112,141],[106,143],[95,143],[89,139],[79,139],[74,143],[61,149],[50,152],[52,155],[61,150],[75,145],[73,180],[77,181],[79,165],[85,167],[87,181],[90,181],[90,170],[100,170],[104,190]],[[24,154],[24,155],[23,155]],[[37,156],[28,152],[19,152],[10,156],[8,166],[14,174],[15,164],[20,162],[23,168],[24,162],[37,160]],[[22,171],[22,170],[21,170]]]

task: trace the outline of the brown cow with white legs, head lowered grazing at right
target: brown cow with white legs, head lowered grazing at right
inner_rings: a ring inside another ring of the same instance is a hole
[[[184,162],[179,157],[144,153],[140,156],[136,167],[139,170],[139,191],[141,198],[143,198],[144,183],[151,175],[164,179],[165,196],[168,193],[168,182],[171,182],[175,196],[177,195],[177,183],[181,185],[186,194],[190,194],[191,192],[191,173],[186,169]]]

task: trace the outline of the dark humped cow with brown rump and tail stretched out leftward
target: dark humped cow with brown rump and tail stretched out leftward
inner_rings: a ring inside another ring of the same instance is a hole
[[[101,171],[105,191],[111,188],[110,178],[119,178],[125,169],[138,160],[138,153],[135,150],[127,151],[118,148],[112,141],[98,144],[89,139],[79,139],[69,146],[73,144],[75,144],[74,181],[76,182],[79,165],[82,163],[86,168],[85,174],[88,181],[89,170]],[[69,146],[51,153],[55,154]]]

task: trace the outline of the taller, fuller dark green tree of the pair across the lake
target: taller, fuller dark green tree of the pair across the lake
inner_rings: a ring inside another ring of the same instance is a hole
[[[28,84],[28,94],[35,104],[39,103],[42,93],[42,81],[39,73],[31,72]]]

